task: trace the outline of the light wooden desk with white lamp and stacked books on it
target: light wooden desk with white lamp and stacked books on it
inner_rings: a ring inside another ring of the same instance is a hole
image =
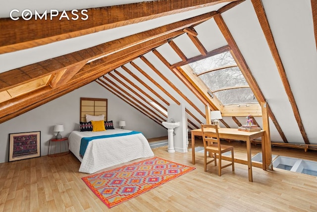
[[[215,132],[214,129],[211,129],[211,131]],[[265,166],[265,138],[264,133],[265,131],[262,130],[260,132],[245,132],[245,131],[239,131],[238,129],[233,128],[219,128],[219,138],[221,139],[230,139],[230,140],[240,140],[240,141],[246,141],[247,142],[247,155],[248,160],[241,160],[234,158],[234,162],[242,163],[248,165],[248,174],[249,174],[249,181],[253,181],[252,177],[252,166],[263,168],[263,170],[266,170]],[[202,129],[192,130],[192,163],[195,164],[195,136],[203,136]],[[251,141],[253,139],[257,139],[262,137],[262,164],[261,163],[255,163],[251,160]],[[229,159],[230,157],[222,156],[223,159]],[[268,159],[268,158],[266,158]],[[230,159],[229,159],[230,160]],[[271,159],[270,159],[271,161]]]

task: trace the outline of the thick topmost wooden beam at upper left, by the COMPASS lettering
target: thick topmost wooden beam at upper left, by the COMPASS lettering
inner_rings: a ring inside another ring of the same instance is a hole
[[[33,17],[28,21],[22,18],[16,21],[1,18],[0,54],[230,1],[232,0],[156,0],[114,5],[87,9],[84,12],[88,16],[86,20],[82,20],[86,16],[81,15],[81,11],[77,12],[77,20],[71,19],[75,18],[71,11],[67,11],[70,20],[59,20],[59,17],[52,20],[50,17],[47,20],[35,20]]]

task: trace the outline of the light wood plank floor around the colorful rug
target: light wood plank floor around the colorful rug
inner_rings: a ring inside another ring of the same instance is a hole
[[[235,145],[235,157],[244,157],[245,143]],[[316,160],[316,151],[272,147],[273,154]],[[153,149],[158,157],[194,166],[190,173],[132,200],[108,209],[81,180],[80,162],[72,154],[42,156],[0,164],[0,211],[4,212],[307,212],[317,211],[317,178],[281,169],[253,167],[248,181],[246,165],[235,163],[222,176],[210,164],[204,172],[203,153],[191,163],[191,151],[168,153]],[[253,154],[261,146],[252,145]],[[122,164],[121,164],[122,165]],[[118,165],[118,166],[121,166]],[[115,167],[118,167],[115,166]],[[108,168],[112,169],[114,167]],[[107,170],[107,169],[105,169]],[[104,171],[104,170],[103,170]]]

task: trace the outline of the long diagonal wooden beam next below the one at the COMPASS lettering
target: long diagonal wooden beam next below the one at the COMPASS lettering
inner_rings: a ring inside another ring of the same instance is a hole
[[[210,19],[214,14],[215,12],[205,13],[193,18],[188,18],[176,23],[164,25],[155,29],[127,36],[125,38],[110,41],[105,44],[100,44],[95,47],[0,73],[1,80],[6,82],[5,84],[0,83],[0,91],[3,87],[6,87],[7,84],[15,86],[19,83],[25,82],[27,79],[40,77],[44,74],[52,74],[54,71],[64,70],[74,66],[76,63],[82,63],[83,61],[88,62],[100,59],[107,55],[113,54],[113,52],[122,51],[126,48],[133,47],[141,43],[146,43],[149,40],[181,30],[181,32],[177,33],[179,35],[183,33],[183,28],[191,26],[194,23],[204,22]],[[15,78],[15,80],[12,81],[12,77]]]

